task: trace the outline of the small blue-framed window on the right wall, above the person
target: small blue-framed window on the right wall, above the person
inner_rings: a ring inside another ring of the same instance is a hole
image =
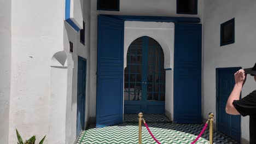
[[[220,46],[235,43],[235,18],[220,25]]]

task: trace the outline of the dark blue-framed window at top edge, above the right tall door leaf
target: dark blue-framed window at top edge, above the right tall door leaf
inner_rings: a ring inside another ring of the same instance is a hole
[[[177,0],[177,14],[197,15],[197,0]]]

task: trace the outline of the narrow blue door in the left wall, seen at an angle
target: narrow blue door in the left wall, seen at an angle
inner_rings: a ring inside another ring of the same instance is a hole
[[[86,59],[78,57],[77,74],[77,137],[84,130],[85,92],[86,92]]]

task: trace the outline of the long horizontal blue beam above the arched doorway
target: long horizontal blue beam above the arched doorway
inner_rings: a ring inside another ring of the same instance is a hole
[[[189,23],[201,22],[199,17],[132,16],[132,15],[102,15],[102,16],[114,17],[124,21],[189,22]]]

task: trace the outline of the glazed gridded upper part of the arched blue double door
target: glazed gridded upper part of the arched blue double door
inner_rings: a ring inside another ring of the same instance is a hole
[[[164,101],[164,52],[154,39],[143,40],[145,38],[141,37],[133,41],[127,51],[127,67],[124,71],[125,100]]]

